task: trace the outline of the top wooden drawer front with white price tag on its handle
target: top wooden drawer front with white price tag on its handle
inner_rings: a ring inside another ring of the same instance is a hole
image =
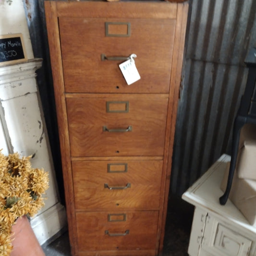
[[[175,20],[61,17],[59,25],[66,92],[169,92]],[[119,68],[124,60],[101,55],[133,53],[141,79],[129,86]]]

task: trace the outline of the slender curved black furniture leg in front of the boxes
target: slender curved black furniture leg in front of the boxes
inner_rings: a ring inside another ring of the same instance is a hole
[[[225,193],[224,195],[219,197],[219,203],[221,205],[225,205],[229,198],[229,194],[232,186],[232,180],[234,177],[237,154],[238,154],[240,131],[244,123],[245,123],[244,120],[241,120],[239,117],[237,117],[234,122],[233,136],[232,136],[232,155],[231,155],[231,162],[230,162],[230,169],[229,169],[229,177],[228,177]]]

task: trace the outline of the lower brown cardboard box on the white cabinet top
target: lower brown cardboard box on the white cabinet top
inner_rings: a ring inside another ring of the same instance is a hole
[[[223,192],[226,190],[229,166],[230,163],[227,164],[227,169],[220,185]],[[256,227],[256,181],[240,179],[235,171],[229,198],[243,213],[248,222]]]

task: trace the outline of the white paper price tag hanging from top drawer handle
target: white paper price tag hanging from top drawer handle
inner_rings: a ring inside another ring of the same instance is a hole
[[[140,74],[135,66],[135,61],[133,59],[134,57],[136,57],[136,55],[132,54],[128,61],[124,61],[119,65],[127,85],[131,85],[140,79]]]

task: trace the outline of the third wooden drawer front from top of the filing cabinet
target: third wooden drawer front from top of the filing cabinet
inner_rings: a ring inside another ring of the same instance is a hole
[[[73,161],[76,209],[158,209],[162,161]]]

